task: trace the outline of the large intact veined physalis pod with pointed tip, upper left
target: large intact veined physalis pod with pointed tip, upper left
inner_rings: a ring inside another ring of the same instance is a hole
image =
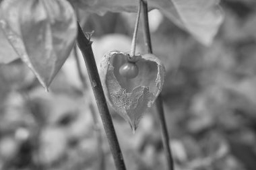
[[[75,42],[73,8],[65,0],[5,0],[1,9],[9,42],[48,89]]]

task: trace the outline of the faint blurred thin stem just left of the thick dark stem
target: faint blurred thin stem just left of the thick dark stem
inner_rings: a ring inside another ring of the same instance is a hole
[[[75,56],[75,63],[77,65],[77,72],[79,75],[79,79],[82,83],[82,91],[83,91],[83,97],[86,98],[88,96],[88,93],[90,93],[90,96],[92,96],[91,91],[88,90],[88,85],[86,83],[86,77],[82,73],[82,68],[79,63],[79,58],[77,54],[77,48],[76,44],[74,46],[74,56]],[[92,120],[94,121],[94,130],[97,140],[97,150],[98,150],[98,170],[104,170],[105,169],[105,158],[104,158],[104,151],[103,151],[103,143],[102,143],[102,132],[100,129],[100,125],[98,122],[98,117],[96,116],[96,110],[94,109],[94,104],[92,103],[92,100],[89,100],[89,109],[90,113],[92,115]]]

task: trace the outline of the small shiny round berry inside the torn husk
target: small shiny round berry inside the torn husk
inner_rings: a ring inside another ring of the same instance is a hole
[[[139,68],[133,62],[126,62],[119,69],[120,75],[128,79],[133,79],[139,73]]]

